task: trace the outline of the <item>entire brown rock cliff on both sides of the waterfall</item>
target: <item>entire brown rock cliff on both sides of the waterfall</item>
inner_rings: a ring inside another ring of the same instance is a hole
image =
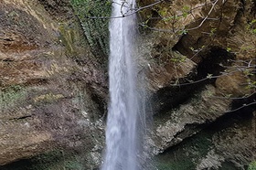
[[[246,169],[256,159],[256,3],[153,3],[138,1],[148,5],[138,62],[157,167]],[[88,17],[109,12],[107,1],[0,2],[0,169],[101,164],[107,21]]]

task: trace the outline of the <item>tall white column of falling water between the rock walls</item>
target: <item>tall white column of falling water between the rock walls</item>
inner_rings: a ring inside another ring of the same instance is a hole
[[[134,0],[115,0],[110,23],[110,95],[106,154],[102,170],[139,168],[138,95],[135,89],[136,68],[134,40],[136,16]],[[123,16],[118,17],[116,16]]]

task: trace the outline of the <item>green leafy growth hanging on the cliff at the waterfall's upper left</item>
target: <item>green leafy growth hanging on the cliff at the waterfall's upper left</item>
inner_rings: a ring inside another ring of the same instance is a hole
[[[108,0],[71,0],[92,52],[101,57],[109,54],[109,19],[90,17],[111,16],[111,4]]]

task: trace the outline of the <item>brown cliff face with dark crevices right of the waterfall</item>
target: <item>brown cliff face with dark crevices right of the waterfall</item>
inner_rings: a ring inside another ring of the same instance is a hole
[[[246,169],[256,154],[255,2],[163,2],[140,15],[159,169]]]

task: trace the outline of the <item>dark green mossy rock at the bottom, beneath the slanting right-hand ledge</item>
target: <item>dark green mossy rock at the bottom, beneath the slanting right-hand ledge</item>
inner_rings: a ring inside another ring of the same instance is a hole
[[[212,147],[211,134],[198,133],[182,143],[156,156],[159,170],[196,169],[199,160],[206,156]]]

